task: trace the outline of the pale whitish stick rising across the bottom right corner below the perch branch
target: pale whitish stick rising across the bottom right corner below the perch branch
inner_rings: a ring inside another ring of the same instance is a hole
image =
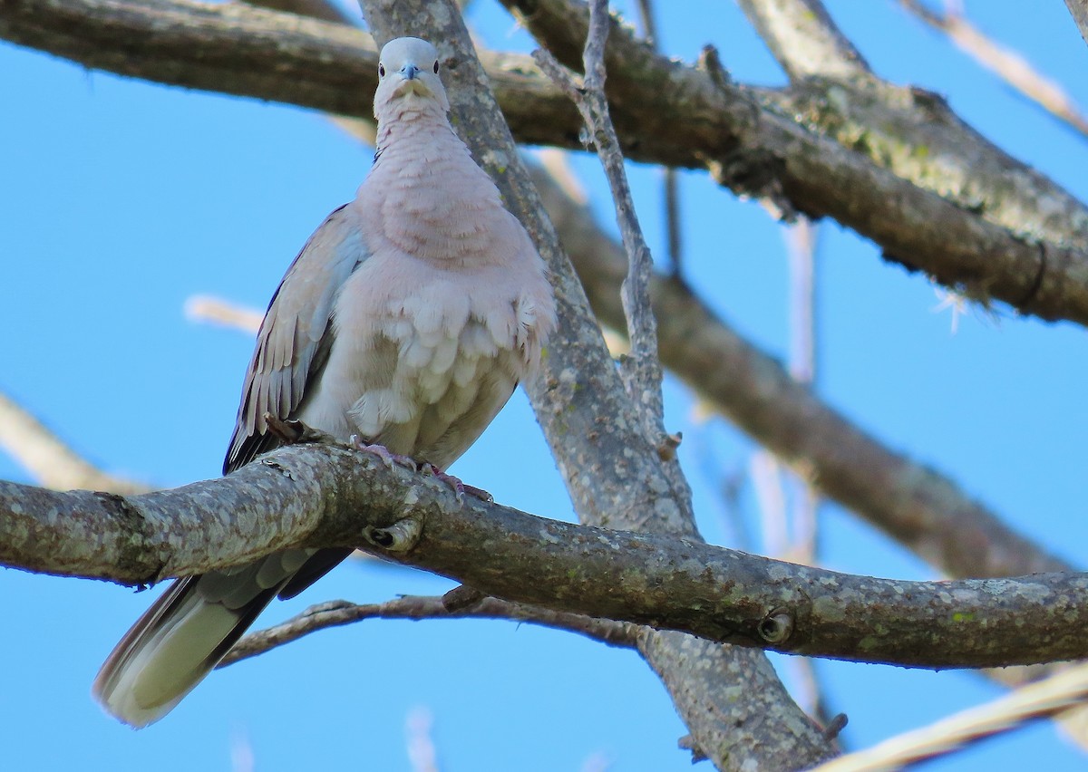
[[[871,748],[813,768],[811,772],[898,770],[963,749],[1033,719],[1054,717],[1088,699],[1088,664],[1023,686],[976,708],[954,713],[927,727],[891,737]]]

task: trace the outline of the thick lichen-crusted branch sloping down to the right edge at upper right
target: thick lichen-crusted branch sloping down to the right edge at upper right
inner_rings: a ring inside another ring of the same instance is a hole
[[[504,2],[560,62],[578,66],[583,3]],[[813,78],[789,91],[745,89],[713,67],[654,54],[618,23],[606,64],[621,139],[625,116],[653,104],[640,113],[639,136],[675,137],[682,124],[715,177],[734,190],[833,216],[889,260],[976,299],[1088,322],[1088,210],[972,132],[935,95]]]

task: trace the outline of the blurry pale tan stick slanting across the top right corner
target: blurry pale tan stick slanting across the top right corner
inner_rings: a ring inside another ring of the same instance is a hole
[[[962,14],[949,10],[940,14],[919,0],[900,4],[935,29],[947,35],[962,51],[1012,86],[1029,101],[1088,136],[1088,117],[1061,84],[1036,70],[1021,53],[987,37]]]

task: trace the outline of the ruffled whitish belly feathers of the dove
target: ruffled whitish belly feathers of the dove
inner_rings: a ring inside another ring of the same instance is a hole
[[[320,389],[299,419],[445,468],[537,359],[536,312],[490,270],[425,265],[421,284],[419,265],[409,283],[381,262],[368,260],[345,283]],[[379,291],[372,275],[382,276]]]

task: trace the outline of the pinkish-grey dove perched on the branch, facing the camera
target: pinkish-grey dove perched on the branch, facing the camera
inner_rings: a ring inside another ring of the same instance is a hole
[[[378,72],[374,165],[272,298],[224,473],[280,444],[265,412],[444,470],[535,366],[555,324],[543,261],[449,126],[437,51],[393,40]],[[107,659],[96,697],[133,726],[161,719],[274,597],[349,552],[292,549],[177,580]]]

